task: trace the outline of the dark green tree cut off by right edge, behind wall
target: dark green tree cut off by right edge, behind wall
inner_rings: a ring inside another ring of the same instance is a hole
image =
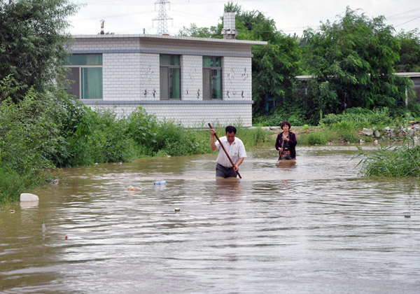
[[[397,34],[400,42],[400,60],[395,63],[397,72],[420,71],[420,32],[418,29],[413,31],[400,31]]]

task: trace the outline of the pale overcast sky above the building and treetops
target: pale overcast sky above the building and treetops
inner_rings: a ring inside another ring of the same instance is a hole
[[[195,23],[198,27],[216,26],[221,22],[223,7],[228,0],[169,0],[165,5],[169,18],[169,34]],[[77,15],[70,18],[71,34],[98,34],[100,21],[105,20],[104,31],[115,34],[156,34],[159,5],[156,0],[73,0],[85,3]],[[307,27],[316,29],[321,22],[337,20],[346,6],[358,8],[367,17],[384,15],[386,24],[397,31],[420,27],[419,0],[237,0],[242,10],[259,10],[276,22],[276,28],[285,34],[302,34]]]

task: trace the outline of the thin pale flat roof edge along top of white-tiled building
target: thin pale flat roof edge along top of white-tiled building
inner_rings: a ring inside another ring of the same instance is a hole
[[[214,43],[235,43],[246,45],[267,45],[267,41],[248,41],[227,38],[197,38],[190,36],[167,36],[167,35],[152,35],[152,34],[97,34],[97,35],[72,35],[73,38],[152,38],[152,39],[169,39],[169,40],[185,40],[185,41],[199,41],[199,42],[214,42]]]

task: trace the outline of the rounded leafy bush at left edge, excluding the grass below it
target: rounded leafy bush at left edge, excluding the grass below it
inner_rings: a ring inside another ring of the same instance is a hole
[[[35,176],[53,167],[59,125],[51,120],[55,105],[30,90],[18,104],[0,102],[0,164],[18,174]]]

